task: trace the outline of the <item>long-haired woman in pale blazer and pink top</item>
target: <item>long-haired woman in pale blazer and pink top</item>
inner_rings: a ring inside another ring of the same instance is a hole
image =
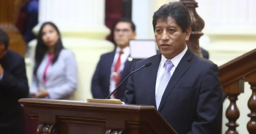
[[[52,22],[38,33],[30,97],[70,99],[77,88],[77,63],[72,51],[62,45],[60,32]]]

